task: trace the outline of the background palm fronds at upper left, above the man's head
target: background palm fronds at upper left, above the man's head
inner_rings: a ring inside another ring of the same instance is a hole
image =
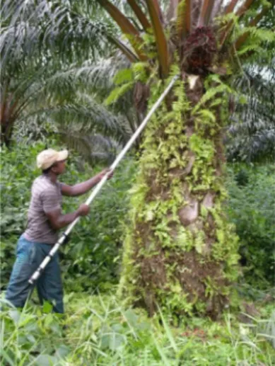
[[[129,124],[129,120],[134,120],[129,96],[124,96],[119,108],[117,104],[112,108],[103,105],[113,87],[112,75],[129,64],[112,47],[103,50],[104,42],[98,40],[98,32],[106,25],[100,21],[91,23],[87,16],[68,9],[64,2],[59,8],[59,16],[62,13],[64,21],[59,22],[59,27],[66,30],[70,27],[71,36],[67,34],[66,42],[70,42],[71,48],[62,57],[67,44],[63,38],[59,42],[61,32],[54,22],[49,22],[50,34],[43,29],[43,42],[40,42],[42,25],[46,22],[41,14],[49,11],[50,4],[40,3],[38,23],[31,1],[17,4],[5,1],[1,6],[4,18],[0,34],[1,144],[9,146],[14,131],[17,139],[22,135],[29,135],[30,139],[41,137],[45,122],[52,122],[66,144],[81,151],[86,158],[112,157],[135,125]],[[82,45],[88,39],[94,48],[75,55],[80,28]],[[105,154],[111,150],[112,154]]]

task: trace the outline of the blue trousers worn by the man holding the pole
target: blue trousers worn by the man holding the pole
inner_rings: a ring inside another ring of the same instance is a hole
[[[15,307],[23,307],[28,297],[30,297],[34,285],[30,285],[28,280],[51,248],[52,245],[49,244],[28,241],[23,235],[18,240],[16,262],[13,265],[13,271],[6,290],[6,299]],[[47,264],[36,285],[41,304],[46,300],[53,304],[55,312],[64,313],[62,279],[57,253]]]

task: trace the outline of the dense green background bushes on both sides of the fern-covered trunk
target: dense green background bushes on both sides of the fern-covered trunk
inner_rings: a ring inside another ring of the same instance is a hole
[[[48,140],[48,143],[51,140]],[[52,139],[52,147],[60,146]],[[1,286],[6,287],[18,236],[26,225],[30,187],[40,174],[35,156],[43,142],[21,143],[1,150]],[[62,181],[74,184],[97,173],[72,153]],[[235,164],[228,167],[228,217],[240,238],[240,262],[245,282],[267,289],[274,284],[274,169]],[[117,284],[124,226],[129,210],[129,189],[136,175],[133,158],[122,161],[114,178],[95,200],[88,218],[72,232],[62,248],[66,288],[71,291],[103,290]],[[84,196],[85,199],[85,196]],[[83,198],[64,198],[64,212],[76,209]]]

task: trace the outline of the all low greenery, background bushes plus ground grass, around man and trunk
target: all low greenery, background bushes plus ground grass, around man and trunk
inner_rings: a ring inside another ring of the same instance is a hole
[[[57,146],[55,140],[52,146]],[[39,174],[35,156],[44,147],[37,142],[1,150],[2,290],[25,227],[30,185]],[[100,168],[72,153],[62,181],[81,181]],[[134,159],[123,161],[89,217],[81,219],[61,249],[65,318],[52,314],[49,304],[38,307],[35,296],[22,313],[6,308],[1,312],[1,357],[6,364],[272,365],[275,352],[267,341],[272,343],[274,334],[274,167],[241,165],[228,170],[228,213],[240,236],[244,276],[235,286],[240,308],[232,307],[216,323],[192,316],[176,322],[176,327],[161,313],[149,320],[144,311],[124,307],[116,295],[128,190],[135,174]],[[80,201],[67,198],[64,212]]]

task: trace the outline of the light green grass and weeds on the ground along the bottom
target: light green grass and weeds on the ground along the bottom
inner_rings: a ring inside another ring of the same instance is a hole
[[[260,294],[255,306],[246,300],[257,316],[228,311],[220,321],[192,317],[176,327],[160,311],[148,319],[124,309],[115,294],[66,294],[64,319],[49,304],[21,313],[3,305],[1,365],[274,365],[272,297]]]

